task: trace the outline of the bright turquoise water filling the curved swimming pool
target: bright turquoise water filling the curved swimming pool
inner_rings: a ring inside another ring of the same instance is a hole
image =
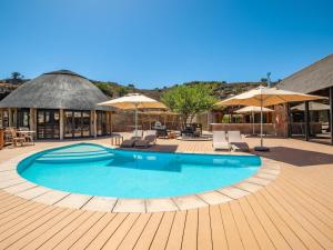
[[[254,174],[255,156],[214,156],[108,149],[78,143],[36,153],[18,172],[37,184],[74,193],[161,198],[222,188]]]

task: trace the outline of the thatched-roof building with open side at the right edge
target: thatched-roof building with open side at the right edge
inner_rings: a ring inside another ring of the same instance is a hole
[[[283,79],[278,88],[327,98],[321,103],[291,103],[289,136],[333,144],[333,54]],[[304,108],[295,108],[300,106]]]

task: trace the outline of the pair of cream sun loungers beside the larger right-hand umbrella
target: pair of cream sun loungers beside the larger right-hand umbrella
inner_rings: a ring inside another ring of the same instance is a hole
[[[249,144],[242,141],[240,131],[228,131],[228,134],[225,131],[213,131],[213,148],[214,150],[250,151]]]

